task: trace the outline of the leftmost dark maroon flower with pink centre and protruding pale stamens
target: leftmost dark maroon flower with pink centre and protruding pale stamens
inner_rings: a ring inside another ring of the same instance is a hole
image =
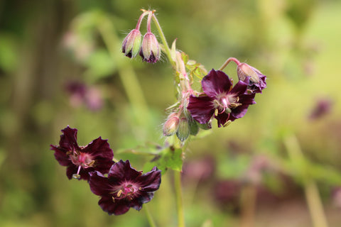
[[[99,171],[102,174],[109,172],[114,164],[114,153],[107,140],[101,137],[92,140],[85,147],[77,144],[77,129],[67,126],[62,130],[59,146],[50,145],[55,151],[55,159],[60,165],[67,166],[66,175],[69,179],[89,180],[89,172]]]

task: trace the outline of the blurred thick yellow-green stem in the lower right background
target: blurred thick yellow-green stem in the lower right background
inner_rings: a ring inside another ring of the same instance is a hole
[[[302,163],[305,162],[305,157],[296,136],[289,136],[286,138],[286,140],[284,140],[284,144],[286,145],[286,150],[288,151],[288,155],[291,158],[293,165],[296,165],[296,168],[298,168],[300,163],[302,165]],[[303,172],[302,175],[303,176],[301,177],[303,177],[305,199],[307,200],[313,226],[328,227],[327,218],[325,217],[325,212],[323,211],[323,204],[320,199],[316,182],[311,177],[305,175],[305,172]]]

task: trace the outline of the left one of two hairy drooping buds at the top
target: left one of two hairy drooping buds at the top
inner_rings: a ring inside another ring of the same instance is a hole
[[[126,57],[136,57],[141,49],[141,32],[138,29],[132,30],[122,43],[122,52]]]

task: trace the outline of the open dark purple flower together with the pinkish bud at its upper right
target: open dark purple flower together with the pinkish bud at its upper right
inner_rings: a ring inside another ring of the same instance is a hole
[[[232,79],[221,70],[211,70],[203,77],[202,91],[199,96],[190,95],[188,111],[200,124],[210,123],[212,116],[217,119],[218,127],[242,118],[249,105],[256,104],[254,96],[266,88],[266,76],[259,70],[238,62],[239,82],[233,86]]]

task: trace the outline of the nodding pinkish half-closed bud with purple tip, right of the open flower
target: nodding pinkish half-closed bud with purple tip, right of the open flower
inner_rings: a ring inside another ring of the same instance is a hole
[[[247,89],[251,90],[251,92],[261,93],[261,90],[266,88],[266,76],[261,74],[256,68],[247,65],[247,63],[240,63],[237,66],[237,74],[240,80],[249,85]],[[247,82],[248,77],[249,80]]]

